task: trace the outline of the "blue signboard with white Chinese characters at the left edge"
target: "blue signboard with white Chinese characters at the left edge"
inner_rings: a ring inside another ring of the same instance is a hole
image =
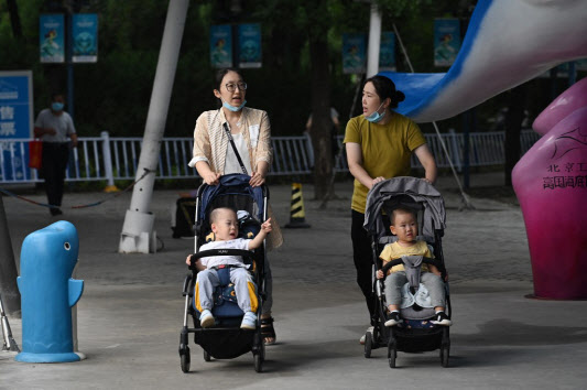
[[[30,139],[32,134],[33,73],[0,72],[0,141]],[[29,149],[18,148],[14,142],[2,142],[0,148],[0,180],[22,178],[29,165]]]

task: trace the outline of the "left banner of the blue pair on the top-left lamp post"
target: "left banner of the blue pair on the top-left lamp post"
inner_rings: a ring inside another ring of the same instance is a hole
[[[63,14],[44,14],[39,18],[39,40],[42,63],[65,62]]]

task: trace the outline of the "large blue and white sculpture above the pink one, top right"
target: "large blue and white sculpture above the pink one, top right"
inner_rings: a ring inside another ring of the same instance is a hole
[[[382,72],[416,122],[454,117],[562,63],[587,57],[587,0],[479,0],[447,73]]]

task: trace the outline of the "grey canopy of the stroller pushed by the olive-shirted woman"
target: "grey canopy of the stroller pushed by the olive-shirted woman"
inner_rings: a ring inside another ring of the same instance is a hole
[[[367,194],[363,228],[377,239],[385,235],[381,212],[388,214],[398,206],[413,207],[422,204],[424,207],[421,235],[434,237],[434,229],[446,228],[446,213],[441,193],[432,184],[417,177],[393,177],[373,185]]]

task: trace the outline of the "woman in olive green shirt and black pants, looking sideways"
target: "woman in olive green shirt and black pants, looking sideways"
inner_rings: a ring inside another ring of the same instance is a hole
[[[362,116],[350,119],[345,133],[348,167],[355,176],[350,230],[352,257],[357,284],[365,295],[370,318],[373,318],[376,296],[371,282],[371,243],[362,227],[367,193],[384,180],[409,176],[412,153],[424,166],[423,180],[434,183],[437,173],[434,156],[417,124],[392,110],[404,98],[391,79],[384,76],[367,79],[362,89]],[[365,336],[361,343],[363,340]]]

